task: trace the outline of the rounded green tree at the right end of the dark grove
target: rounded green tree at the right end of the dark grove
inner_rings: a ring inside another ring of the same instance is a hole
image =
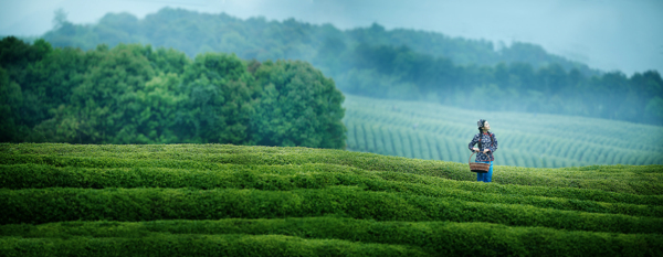
[[[263,90],[252,118],[255,143],[345,148],[344,96],[304,62],[265,62],[254,73]]]

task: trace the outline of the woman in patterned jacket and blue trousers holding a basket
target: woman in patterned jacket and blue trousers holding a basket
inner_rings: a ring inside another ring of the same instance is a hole
[[[467,148],[471,151],[477,152],[476,162],[491,163],[487,173],[476,173],[476,181],[488,183],[493,179],[493,161],[495,160],[493,152],[497,150],[497,138],[490,131],[491,125],[488,121],[480,119],[476,125],[478,126],[478,133],[474,135]],[[478,143],[478,148],[474,147],[476,143]]]

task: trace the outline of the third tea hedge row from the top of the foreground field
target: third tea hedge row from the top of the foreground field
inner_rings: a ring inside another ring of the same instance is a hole
[[[343,201],[344,204],[338,204]],[[659,217],[594,214],[491,204],[403,193],[335,186],[318,190],[256,191],[234,189],[30,189],[0,191],[10,210],[2,224],[66,221],[276,218],[336,215],[376,221],[487,222],[556,229],[652,234],[663,231]],[[40,210],[33,212],[32,210]]]

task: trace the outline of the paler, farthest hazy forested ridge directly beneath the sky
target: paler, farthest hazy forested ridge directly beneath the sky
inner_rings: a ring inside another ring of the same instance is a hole
[[[144,43],[172,47],[196,56],[204,52],[235,53],[246,60],[327,60],[328,51],[349,51],[358,44],[407,45],[417,53],[446,57],[459,65],[496,65],[522,62],[535,67],[557,63],[565,69],[577,68],[586,75],[598,71],[547,53],[540,45],[515,42],[497,49],[491,41],[451,38],[417,30],[368,28],[341,31],[332,24],[315,25],[288,19],[283,22],[264,18],[238,19],[225,13],[210,14],[164,8],[138,19],[129,13],[107,13],[96,24],[74,24],[63,11],[56,12],[55,26],[43,39],[53,46],[84,50],[98,44]],[[339,49],[340,47],[340,49]],[[322,57],[322,58],[316,58]],[[325,73],[328,71],[324,71]]]

